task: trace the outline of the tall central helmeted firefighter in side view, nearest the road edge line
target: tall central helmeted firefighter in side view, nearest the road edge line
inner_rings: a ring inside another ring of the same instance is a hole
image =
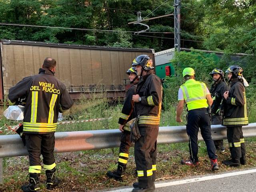
[[[133,62],[140,82],[137,92],[132,96],[135,102],[134,114],[138,117],[140,138],[135,141],[134,155],[138,182],[132,192],[154,192],[156,178],[156,138],[160,123],[162,84],[154,74],[152,59],[148,55],[139,55]]]

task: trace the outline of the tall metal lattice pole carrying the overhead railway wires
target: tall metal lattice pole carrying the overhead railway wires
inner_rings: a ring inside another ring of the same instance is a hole
[[[174,48],[180,52],[180,0],[174,0]]]

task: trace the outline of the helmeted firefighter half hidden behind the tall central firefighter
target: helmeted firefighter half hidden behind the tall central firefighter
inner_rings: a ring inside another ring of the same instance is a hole
[[[117,170],[114,172],[108,171],[107,176],[109,178],[114,178],[115,180],[122,181],[123,172],[126,169],[126,164],[129,158],[129,149],[131,146],[130,141],[130,125],[128,122],[133,118],[133,106],[134,102],[132,101],[132,96],[136,94],[137,83],[139,82],[139,78],[137,76],[136,68],[131,67],[127,70],[126,74],[129,75],[130,83],[132,86],[126,93],[124,106],[122,108],[122,112],[120,118],[118,120],[119,130],[122,131],[121,134],[121,143],[119,148],[119,158],[118,158],[118,166]]]

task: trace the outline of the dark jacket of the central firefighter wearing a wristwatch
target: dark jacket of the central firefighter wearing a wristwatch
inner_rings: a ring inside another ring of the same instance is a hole
[[[160,78],[153,74],[153,70],[142,78],[137,86],[137,93],[141,102],[135,103],[135,116],[139,116],[138,125],[158,127],[162,105],[162,84]]]

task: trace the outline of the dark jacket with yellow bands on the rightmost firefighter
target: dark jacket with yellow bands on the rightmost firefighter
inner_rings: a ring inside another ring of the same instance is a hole
[[[223,124],[227,127],[248,125],[245,88],[238,79],[232,80],[226,102],[224,102]]]

